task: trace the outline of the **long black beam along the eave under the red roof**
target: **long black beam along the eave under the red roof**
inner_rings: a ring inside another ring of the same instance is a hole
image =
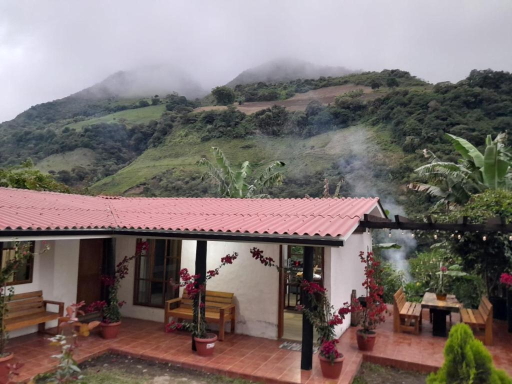
[[[170,231],[164,229],[127,229],[127,228],[92,228],[92,229],[5,229],[0,230],[2,237],[44,237],[44,236],[140,236],[189,240],[214,240],[251,243],[278,243],[297,245],[316,245],[343,247],[344,241],[328,236],[298,236],[279,233],[241,233],[213,231]]]

